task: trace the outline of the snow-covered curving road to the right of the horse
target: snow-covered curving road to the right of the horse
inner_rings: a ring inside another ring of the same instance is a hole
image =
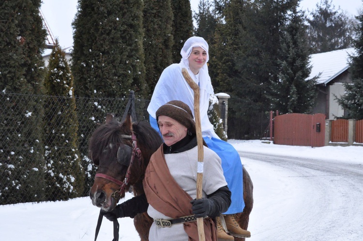
[[[363,240],[362,165],[240,155],[254,182],[250,241]]]

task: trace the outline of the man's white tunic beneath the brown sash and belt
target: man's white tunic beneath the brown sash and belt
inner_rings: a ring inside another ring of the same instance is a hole
[[[197,147],[181,153],[165,154],[166,164],[171,176],[180,187],[193,199],[197,197]],[[221,159],[211,149],[204,147],[204,172],[203,172],[203,192],[206,197],[227,185],[221,166]],[[170,217],[155,210],[151,205],[148,208],[151,218],[169,219]],[[150,241],[187,241],[188,235],[184,231],[182,224],[171,227],[158,228],[155,223],[151,225],[149,233]]]

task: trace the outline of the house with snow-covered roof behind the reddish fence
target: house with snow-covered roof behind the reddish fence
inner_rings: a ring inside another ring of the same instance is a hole
[[[336,119],[346,115],[344,109],[337,103],[336,97],[344,94],[344,83],[351,83],[349,56],[354,48],[334,50],[326,53],[310,55],[312,70],[307,79],[318,76],[318,98],[312,114],[323,113],[327,119]]]

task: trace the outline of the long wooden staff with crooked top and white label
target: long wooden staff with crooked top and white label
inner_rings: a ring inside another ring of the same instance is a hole
[[[181,70],[186,82],[189,84],[190,88],[192,88],[194,92],[194,115],[196,118],[196,134],[197,134],[197,146],[198,146],[198,167],[197,167],[197,199],[202,198],[202,184],[203,184],[203,137],[202,137],[202,127],[200,124],[200,112],[199,112],[199,86],[197,83],[190,77],[188,71],[183,68]],[[197,227],[198,227],[198,235],[199,241],[205,241],[204,234],[204,225],[203,218],[197,218]]]

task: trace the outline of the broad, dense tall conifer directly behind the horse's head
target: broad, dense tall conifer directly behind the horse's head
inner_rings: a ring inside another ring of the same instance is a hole
[[[79,123],[79,151],[87,171],[85,190],[89,190],[94,170],[90,168],[88,141],[106,113],[121,116],[122,106],[114,99],[149,93],[145,82],[143,50],[143,1],[79,0],[73,22],[74,51],[72,74]],[[116,109],[118,108],[118,109]],[[86,135],[89,134],[89,135]],[[85,193],[87,195],[87,193]]]

